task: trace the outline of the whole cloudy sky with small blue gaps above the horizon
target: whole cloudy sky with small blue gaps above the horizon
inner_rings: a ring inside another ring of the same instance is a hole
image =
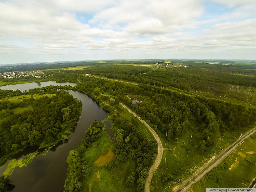
[[[256,0],[0,0],[0,64],[256,59]]]

